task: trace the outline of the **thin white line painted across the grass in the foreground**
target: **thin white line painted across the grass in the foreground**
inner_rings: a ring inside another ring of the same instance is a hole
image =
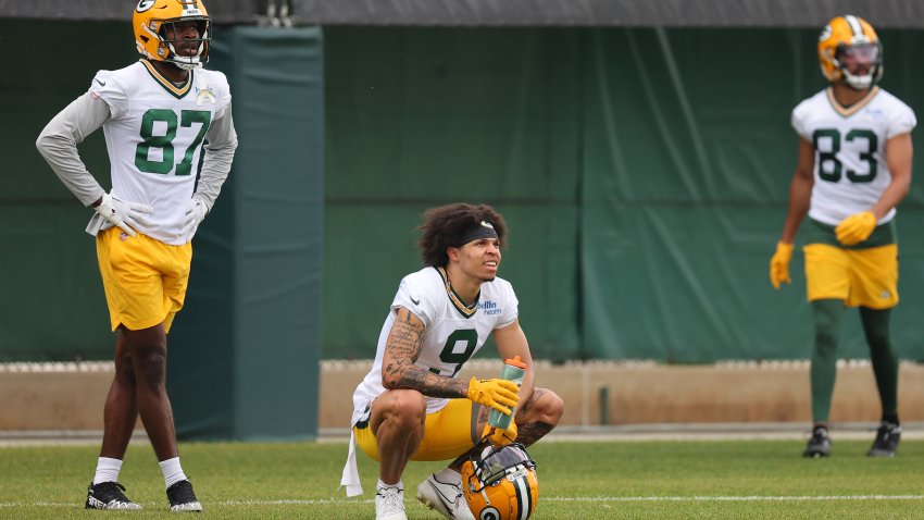
[[[924,500],[924,495],[794,495],[794,496],[762,496],[762,495],[745,495],[745,496],[550,496],[542,497],[541,502],[838,502],[838,500]],[[347,499],[347,498],[317,498],[308,500],[223,500],[209,502],[205,505],[213,506],[313,506],[313,505],[348,505],[348,504],[372,504],[374,500],[366,499]],[[142,504],[143,506],[157,507],[155,503]],[[83,503],[66,503],[66,502],[37,502],[25,504],[20,502],[0,503],[0,508],[4,507],[83,507]]]

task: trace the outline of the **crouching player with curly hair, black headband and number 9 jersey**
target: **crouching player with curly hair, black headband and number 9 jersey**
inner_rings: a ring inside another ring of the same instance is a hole
[[[362,493],[359,444],[379,461],[375,518],[403,520],[401,473],[408,461],[454,459],[417,486],[417,499],[446,518],[473,519],[460,479],[464,455],[484,435],[496,445],[513,439],[532,445],[558,424],[564,404],[553,392],[534,387],[516,295],[497,277],[503,218],[489,206],[453,203],[427,211],[420,230],[426,267],[401,280],[372,370],[353,394],[350,453],[340,483],[349,496]],[[501,379],[458,377],[491,334],[501,359],[525,361],[519,388]],[[509,413],[513,407],[508,430],[487,426],[491,409]]]

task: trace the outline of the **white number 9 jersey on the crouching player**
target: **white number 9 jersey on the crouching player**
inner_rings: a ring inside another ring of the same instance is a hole
[[[445,272],[437,268],[424,268],[404,276],[382,326],[372,370],[353,394],[351,424],[355,424],[366,406],[385,392],[382,358],[398,308],[408,309],[424,322],[423,348],[414,364],[439,375],[457,377],[462,364],[480,350],[492,331],[516,321],[517,305],[513,287],[502,278],[482,284],[477,301],[466,307],[455,297]],[[438,411],[448,401],[438,397],[426,399],[427,413]]]

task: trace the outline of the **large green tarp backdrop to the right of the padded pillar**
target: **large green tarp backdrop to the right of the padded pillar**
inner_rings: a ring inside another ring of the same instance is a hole
[[[769,262],[796,164],[789,113],[824,86],[816,36],[326,29],[324,357],[374,355],[420,264],[419,214],[467,200],[509,220],[500,275],[538,357],[807,358],[801,255],[778,293]],[[881,36],[884,87],[924,113],[924,35]],[[911,359],[924,359],[922,195],[899,221],[894,337]],[[866,357],[845,321],[842,356]]]

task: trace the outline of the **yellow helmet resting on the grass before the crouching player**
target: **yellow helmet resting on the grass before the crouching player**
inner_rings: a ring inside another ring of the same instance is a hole
[[[536,462],[522,444],[488,446],[462,465],[462,493],[478,520],[526,520],[539,500]]]

